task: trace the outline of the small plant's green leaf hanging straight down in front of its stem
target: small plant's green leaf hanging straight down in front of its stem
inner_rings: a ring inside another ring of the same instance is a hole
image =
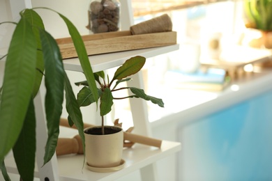
[[[100,116],[105,116],[112,110],[112,100],[112,92],[109,90],[109,88],[105,88],[100,97]]]

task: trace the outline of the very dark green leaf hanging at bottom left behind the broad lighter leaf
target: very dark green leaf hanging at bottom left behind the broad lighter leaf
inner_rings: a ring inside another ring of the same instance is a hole
[[[13,155],[22,180],[33,180],[36,152],[36,118],[33,100],[29,103],[24,126],[13,147]]]

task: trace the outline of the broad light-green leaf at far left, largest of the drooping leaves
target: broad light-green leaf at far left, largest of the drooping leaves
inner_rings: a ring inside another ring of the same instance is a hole
[[[22,17],[6,58],[0,105],[0,160],[13,147],[22,129],[35,80],[36,48],[31,26]]]

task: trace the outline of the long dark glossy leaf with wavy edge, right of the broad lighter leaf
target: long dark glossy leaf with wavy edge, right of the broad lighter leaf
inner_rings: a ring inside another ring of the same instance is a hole
[[[50,161],[56,150],[59,137],[59,120],[62,113],[64,69],[59,47],[56,40],[40,29],[40,40],[45,61],[45,112],[47,118],[47,143],[44,164]]]

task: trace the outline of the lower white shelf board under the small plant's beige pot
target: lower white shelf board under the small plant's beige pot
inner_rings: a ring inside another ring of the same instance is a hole
[[[65,155],[58,157],[59,179],[60,180],[115,180],[139,168],[148,166],[153,162],[167,157],[181,150],[181,143],[172,141],[163,141],[161,148],[155,148],[148,145],[135,144],[133,148],[124,148],[123,159],[125,166],[120,171],[110,173],[96,173],[89,171],[86,166],[82,169],[83,155]],[[9,173],[17,173],[13,157],[5,159],[6,168]],[[35,169],[38,177],[38,168]]]

